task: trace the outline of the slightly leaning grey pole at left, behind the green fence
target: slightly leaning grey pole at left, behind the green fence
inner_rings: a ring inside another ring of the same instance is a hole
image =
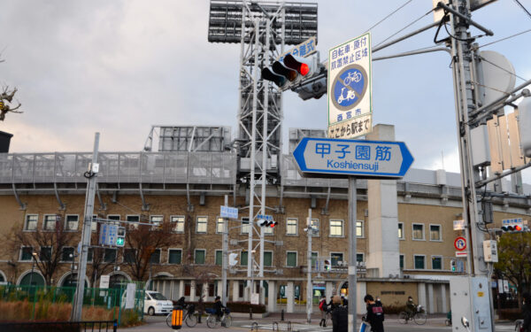
[[[83,229],[81,231],[81,253],[78,262],[77,284],[75,287],[75,297],[73,298],[71,321],[81,321],[81,312],[83,310],[83,294],[85,293],[85,274],[87,273],[87,257],[89,256],[90,246],[90,225],[92,224],[92,215],[94,213],[94,197],[96,194],[96,175],[98,172],[97,150],[99,146],[99,133],[94,137],[94,151],[92,153],[92,163],[85,177],[89,179],[87,183],[87,194],[85,196],[85,217],[83,220]]]

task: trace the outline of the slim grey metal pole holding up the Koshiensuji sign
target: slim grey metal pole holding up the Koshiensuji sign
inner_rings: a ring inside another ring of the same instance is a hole
[[[356,177],[349,176],[349,332],[356,332],[356,209],[357,209]]]

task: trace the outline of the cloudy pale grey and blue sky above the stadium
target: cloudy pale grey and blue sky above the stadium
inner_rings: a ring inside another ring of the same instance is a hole
[[[318,1],[321,59],[405,2]],[[531,11],[531,1],[520,3]],[[19,89],[24,111],[0,122],[0,130],[14,135],[11,152],[91,151],[96,131],[101,151],[140,151],[151,125],[223,125],[235,135],[240,45],[207,42],[209,4],[3,0],[0,83]],[[409,2],[373,28],[373,45],[431,6],[431,0]],[[473,19],[495,33],[479,38],[480,45],[531,28],[514,0],[498,0],[473,12]],[[404,32],[433,21],[430,13]],[[432,29],[373,56],[433,46],[434,36]],[[531,33],[481,50],[504,54],[521,78],[531,78]],[[373,63],[373,123],[395,125],[396,140],[407,143],[416,168],[444,163],[458,171],[449,66],[443,52]],[[284,96],[284,138],[289,127],[326,128],[326,97],[304,102],[293,92]]]

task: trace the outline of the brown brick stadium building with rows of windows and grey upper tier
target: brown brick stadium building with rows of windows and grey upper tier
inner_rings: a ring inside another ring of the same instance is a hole
[[[375,127],[376,134],[393,134],[391,126]],[[301,129],[290,129],[291,149]],[[307,133],[307,131],[306,131]],[[205,135],[207,136],[207,135]],[[219,142],[218,142],[219,143]],[[161,143],[162,144],[162,143]],[[218,146],[219,145],[219,146]],[[249,300],[247,239],[249,190],[238,181],[238,156],[223,144],[210,151],[100,152],[95,214],[115,220],[150,220],[171,225],[171,243],[154,248],[144,281],[166,297],[213,300],[221,292],[221,230],[219,206],[228,195],[229,205],[241,208],[240,221],[229,224],[229,250],[239,255],[228,274],[230,301]],[[214,151],[218,150],[218,151]],[[413,155],[414,155],[414,151]],[[73,270],[70,254],[80,241],[91,153],[0,154],[0,232],[53,231],[57,215],[72,232],[70,244],[61,249],[63,259],[50,283],[67,285]],[[304,311],[306,291],[308,210],[319,234],[312,237],[314,303],[319,294],[348,294],[348,182],[341,179],[306,179],[296,172],[291,156],[280,158],[279,174],[267,187],[267,206],[279,224],[266,233],[265,277],[262,301],[270,312],[281,309]],[[459,174],[443,170],[411,169],[404,179],[358,181],[358,311],[363,312],[366,293],[380,295],[384,304],[404,304],[408,296],[425,305],[428,313],[450,309],[450,261],[455,259],[453,220],[461,219],[462,197]],[[531,187],[512,189],[500,181],[489,192],[529,194]],[[509,218],[527,219],[529,199],[493,197],[494,224]],[[143,217],[143,218],[142,218]],[[242,218],[243,217],[243,218]],[[96,225],[96,224],[95,224]],[[497,226],[496,226],[497,225]],[[237,227],[241,226],[241,227]],[[235,227],[235,228],[232,228]],[[96,231],[96,228],[95,228]],[[34,268],[31,252],[57,248],[2,247],[0,282],[43,284]],[[135,277],[124,259],[127,249],[104,251],[108,263],[101,274],[111,274],[112,285]],[[251,253],[252,254],[252,253]],[[331,269],[323,269],[323,259]],[[88,271],[91,271],[89,261]],[[201,277],[198,277],[198,274]],[[93,282],[90,284],[89,280]],[[99,285],[99,275],[88,275],[90,287]]]

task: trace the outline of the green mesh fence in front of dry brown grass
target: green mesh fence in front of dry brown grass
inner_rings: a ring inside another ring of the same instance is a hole
[[[82,320],[142,320],[144,290],[137,287],[126,309],[126,287],[85,289]],[[75,287],[0,286],[0,320],[69,320],[74,294]]]

